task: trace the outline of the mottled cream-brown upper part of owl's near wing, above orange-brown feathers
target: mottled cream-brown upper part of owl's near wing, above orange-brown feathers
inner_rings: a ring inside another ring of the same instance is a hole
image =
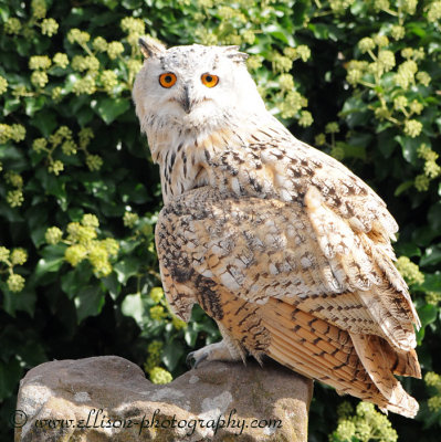
[[[179,218],[185,225],[170,232],[185,262],[181,270],[175,265],[166,286],[179,284],[180,273],[196,272],[249,302],[283,299],[343,329],[384,337],[398,349],[416,347],[418,316],[391,260],[327,208],[315,188],[305,204],[225,198],[206,188],[192,192],[164,209],[183,210],[191,201],[191,213]],[[160,253],[160,261],[170,261]]]

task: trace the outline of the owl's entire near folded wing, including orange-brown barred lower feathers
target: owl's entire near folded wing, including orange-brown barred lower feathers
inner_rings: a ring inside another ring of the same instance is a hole
[[[389,281],[401,280],[366,233],[316,197],[301,204],[206,187],[166,206],[157,249],[167,297],[182,317],[199,302],[258,357],[414,415],[392,375],[420,376],[412,309],[395,287],[403,283]]]

